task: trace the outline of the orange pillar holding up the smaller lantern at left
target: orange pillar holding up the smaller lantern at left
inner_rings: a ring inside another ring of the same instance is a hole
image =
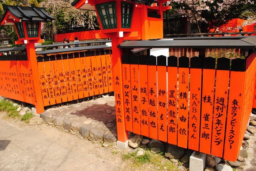
[[[32,85],[34,90],[34,104],[35,109],[37,110],[37,114],[44,112],[44,103],[40,88],[39,81],[39,73],[37,68],[37,56],[35,54],[35,43],[33,40],[30,40],[28,44],[26,44],[27,48],[27,58],[29,61],[29,68],[32,70]]]

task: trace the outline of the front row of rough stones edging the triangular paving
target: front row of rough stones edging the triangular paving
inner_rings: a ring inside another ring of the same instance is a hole
[[[89,124],[79,124],[72,122],[68,118],[57,116],[54,112],[43,112],[40,114],[42,120],[57,128],[61,128],[65,132],[70,132],[72,135],[77,135],[79,137],[87,138],[93,142],[106,142],[114,143],[117,141],[116,136],[114,136],[110,131],[106,131],[99,128],[93,128],[93,125]]]

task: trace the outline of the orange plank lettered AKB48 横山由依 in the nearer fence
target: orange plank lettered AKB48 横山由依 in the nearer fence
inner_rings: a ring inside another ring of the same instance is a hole
[[[179,58],[180,60],[180,58]],[[178,146],[188,146],[188,86],[189,69],[178,68]]]

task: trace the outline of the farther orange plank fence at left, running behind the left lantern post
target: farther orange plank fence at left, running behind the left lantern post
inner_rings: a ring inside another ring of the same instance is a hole
[[[111,58],[110,49],[38,56],[39,78],[33,78],[26,55],[1,56],[0,96],[35,104],[35,79],[43,106],[112,92]]]

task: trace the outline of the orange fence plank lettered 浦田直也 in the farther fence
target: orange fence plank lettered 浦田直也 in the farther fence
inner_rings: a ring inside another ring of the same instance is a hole
[[[82,70],[83,94],[84,94],[84,97],[89,97],[85,53],[84,52],[80,52],[79,55],[80,55],[80,65],[81,65],[81,70]]]

